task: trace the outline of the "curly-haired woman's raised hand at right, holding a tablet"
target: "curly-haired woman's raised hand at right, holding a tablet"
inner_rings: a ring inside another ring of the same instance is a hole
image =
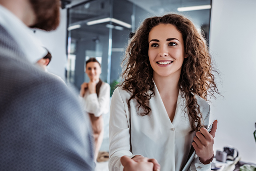
[[[207,131],[207,129],[201,128],[200,131],[198,131],[196,133],[196,136],[193,138],[194,142],[192,143],[192,145],[196,150],[199,160],[203,164],[209,164],[213,159],[213,144],[216,130],[217,120],[213,122],[212,130],[210,133]]]

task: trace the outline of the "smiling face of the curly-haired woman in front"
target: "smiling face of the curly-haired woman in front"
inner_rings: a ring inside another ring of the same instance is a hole
[[[185,55],[182,34],[172,24],[159,24],[148,35],[148,57],[154,76],[180,74]]]

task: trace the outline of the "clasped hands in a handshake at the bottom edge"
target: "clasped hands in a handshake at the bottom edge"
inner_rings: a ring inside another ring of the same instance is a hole
[[[132,159],[127,156],[121,157],[121,163],[124,166],[124,171],[159,171],[160,164],[154,158],[142,157],[136,155]]]

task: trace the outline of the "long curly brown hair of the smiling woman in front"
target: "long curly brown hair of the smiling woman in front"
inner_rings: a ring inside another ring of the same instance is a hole
[[[203,127],[202,113],[197,103],[196,95],[207,100],[207,95],[219,94],[212,74],[212,61],[208,52],[205,39],[198,32],[194,24],[186,17],[178,14],[167,14],[162,17],[146,19],[137,29],[135,35],[129,41],[123,60],[123,82],[119,85],[122,89],[132,93],[128,100],[136,99],[140,115],[148,115],[151,111],[149,100],[155,95],[153,82],[153,69],[148,57],[148,35],[150,30],[159,24],[172,24],[182,33],[185,54],[181,75],[180,90],[182,97],[187,101],[187,112],[192,131]],[[217,71],[216,71],[217,72]],[[139,112],[138,108],[138,112]]]

